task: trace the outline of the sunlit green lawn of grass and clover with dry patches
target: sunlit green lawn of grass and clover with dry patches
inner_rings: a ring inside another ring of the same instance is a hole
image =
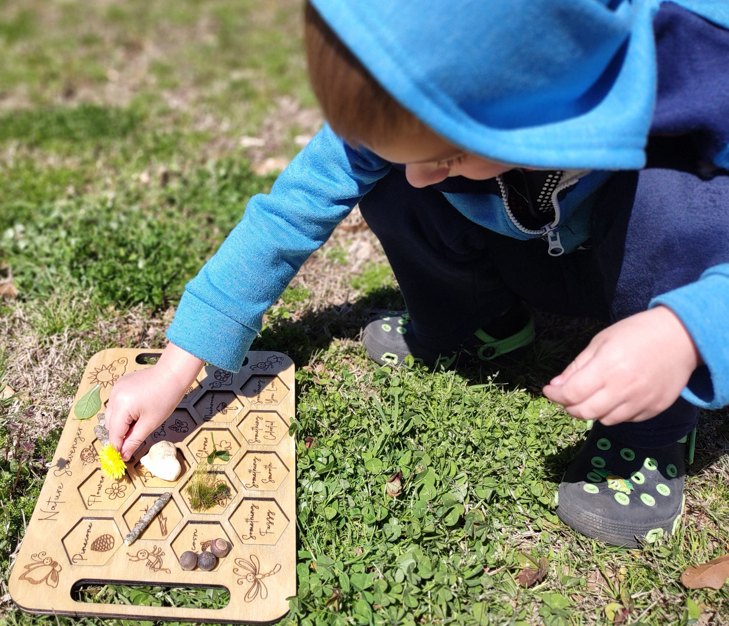
[[[0,280],[17,288],[0,298],[1,625],[109,623],[15,609],[15,551],[89,357],[163,346],[185,282],[319,127],[300,47],[295,0],[0,0]],[[728,551],[726,412],[701,418],[679,533],[606,547],[556,518],[585,424],[539,393],[595,328],[542,316],[518,357],[391,371],[357,337],[397,306],[354,213],[254,344],[297,365],[298,591],[282,624],[729,624],[726,587],[679,580]],[[542,581],[519,585],[542,558]],[[226,601],[119,585],[79,600]]]

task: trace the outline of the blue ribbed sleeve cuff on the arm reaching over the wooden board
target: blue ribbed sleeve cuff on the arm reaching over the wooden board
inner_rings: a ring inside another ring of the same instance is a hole
[[[176,346],[230,372],[241,369],[256,331],[185,291],[167,338]]]

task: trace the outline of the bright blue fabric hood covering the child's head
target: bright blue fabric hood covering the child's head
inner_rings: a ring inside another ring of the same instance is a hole
[[[438,134],[534,167],[637,169],[655,104],[660,0],[311,0]],[[726,0],[679,0],[729,26]]]

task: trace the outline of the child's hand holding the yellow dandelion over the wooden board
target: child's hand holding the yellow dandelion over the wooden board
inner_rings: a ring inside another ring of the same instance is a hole
[[[109,395],[109,441],[128,461],[150,432],[162,424],[198,376],[203,360],[168,344],[156,365],[122,376]]]

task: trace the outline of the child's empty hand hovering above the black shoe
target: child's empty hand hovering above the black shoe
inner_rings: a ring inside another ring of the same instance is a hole
[[[679,318],[656,306],[598,333],[543,391],[580,419],[643,421],[677,400],[699,364]]]

